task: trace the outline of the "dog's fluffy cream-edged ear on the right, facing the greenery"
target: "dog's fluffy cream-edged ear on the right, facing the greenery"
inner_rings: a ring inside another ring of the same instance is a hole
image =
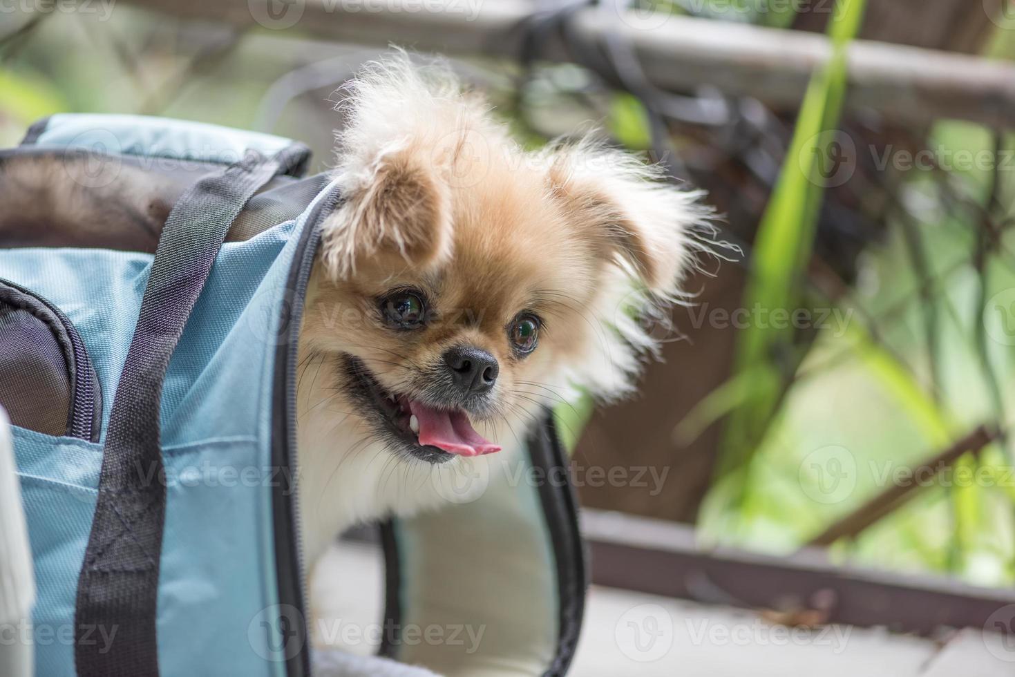
[[[664,183],[660,167],[614,148],[583,143],[551,157],[551,195],[570,221],[654,294],[672,294],[691,258],[690,231],[710,215],[700,194]]]

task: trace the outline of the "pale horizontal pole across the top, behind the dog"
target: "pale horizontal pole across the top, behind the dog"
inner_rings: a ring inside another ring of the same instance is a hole
[[[273,0],[127,2],[182,18],[261,25],[343,43],[507,58],[518,56],[521,26],[534,7],[524,0],[449,0],[446,10],[433,11],[435,0],[291,0],[283,11],[269,14],[267,7],[277,4]],[[627,41],[661,88],[686,92],[707,84],[773,108],[796,109],[811,73],[830,54],[821,35],[618,12],[608,4],[579,10],[571,20],[583,40],[598,43],[615,33]],[[551,61],[571,60],[557,37],[548,39],[541,52]],[[853,111],[872,110],[906,124],[955,118],[1004,128],[1015,120],[1015,65],[1008,62],[857,41],[849,63],[848,107]]]

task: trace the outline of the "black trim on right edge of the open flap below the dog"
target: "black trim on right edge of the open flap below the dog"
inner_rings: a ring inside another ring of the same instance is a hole
[[[589,587],[588,556],[578,522],[578,499],[570,482],[570,466],[560,445],[552,412],[547,412],[546,422],[540,425],[529,441],[529,455],[534,467],[542,469],[542,477],[557,477],[564,473],[568,481],[542,482],[539,498],[546,516],[546,527],[553,543],[556,560],[557,591],[559,595],[557,649],[550,667],[543,677],[560,677],[567,673],[578,648],[582,619],[585,615],[585,596]]]

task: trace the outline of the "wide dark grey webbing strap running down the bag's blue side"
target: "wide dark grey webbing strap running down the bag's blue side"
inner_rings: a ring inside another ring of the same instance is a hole
[[[77,583],[79,677],[158,675],[155,602],[165,518],[158,420],[162,380],[229,225],[259,188],[304,164],[308,155],[301,145],[271,158],[249,150],[240,162],[188,189],[165,220],[113,399],[98,501]],[[103,636],[115,637],[112,649],[94,641],[99,628]]]

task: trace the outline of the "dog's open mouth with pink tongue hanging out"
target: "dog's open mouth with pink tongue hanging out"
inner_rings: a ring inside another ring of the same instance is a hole
[[[461,409],[443,409],[408,395],[387,390],[366,365],[348,357],[350,383],[362,404],[373,409],[386,432],[412,456],[428,463],[450,461],[453,456],[482,456],[500,447],[476,432]]]

